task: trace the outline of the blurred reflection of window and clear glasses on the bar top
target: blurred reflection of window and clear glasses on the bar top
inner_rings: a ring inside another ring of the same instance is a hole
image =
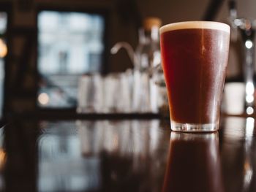
[[[161,191],[170,131],[159,120],[59,126],[41,126],[39,191]]]

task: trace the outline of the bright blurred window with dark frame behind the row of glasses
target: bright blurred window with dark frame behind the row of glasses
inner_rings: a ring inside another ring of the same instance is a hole
[[[83,12],[41,11],[38,14],[39,107],[76,107],[78,79],[100,72],[105,19]]]

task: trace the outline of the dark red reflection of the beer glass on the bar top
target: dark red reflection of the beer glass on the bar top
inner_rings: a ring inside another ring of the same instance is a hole
[[[218,133],[170,134],[162,191],[223,191]]]

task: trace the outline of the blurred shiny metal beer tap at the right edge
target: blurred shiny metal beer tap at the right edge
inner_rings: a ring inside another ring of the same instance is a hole
[[[229,1],[230,23],[233,31],[240,31],[244,47],[244,83],[245,83],[245,110],[247,115],[252,115],[255,111],[255,83],[254,62],[255,62],[255,28],[256,20],[249,18],[238,18],[236,11],[236,1]]]

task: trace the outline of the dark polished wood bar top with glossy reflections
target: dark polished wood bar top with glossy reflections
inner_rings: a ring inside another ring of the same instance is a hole
[[[160,120],[10,120],[0,191],[256,191],[255,119],[182,134]]]

